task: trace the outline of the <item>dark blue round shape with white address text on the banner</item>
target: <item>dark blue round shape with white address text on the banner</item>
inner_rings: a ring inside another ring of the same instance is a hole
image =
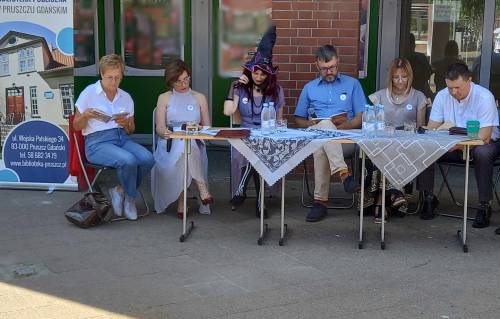
[[[3,159],[19,182],[64,183],[69,175],[68,137],[50,122],[23,122],[8,135]]]

